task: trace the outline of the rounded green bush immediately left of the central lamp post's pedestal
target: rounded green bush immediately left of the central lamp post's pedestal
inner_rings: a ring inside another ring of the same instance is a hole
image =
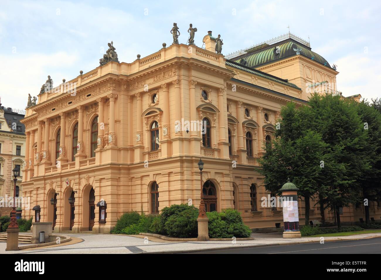
[[[199,210],[194,206],[187,206],[187,209],[171,215],[164,228],[171,237],[197,237],[197,216]]]

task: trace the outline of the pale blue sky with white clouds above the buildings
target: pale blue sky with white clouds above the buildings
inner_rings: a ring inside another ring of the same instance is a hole
[[[17,1],[0,0],[0,97],[25,109],[50,75],[53,86],[99,66],[113,41],[120,62],[130,63],[172,42],[178,24],[187,43],[211,30],[223,54],[290,32],[337,65],[343,96],[381,97],[381,1]]]

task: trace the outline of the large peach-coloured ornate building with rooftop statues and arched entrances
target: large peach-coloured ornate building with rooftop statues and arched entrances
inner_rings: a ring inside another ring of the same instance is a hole
[[[126,211],[198,206],[201,157],[207,211],[236,208],[253,229],[280,227],[282,210],[261,207],[270,193],[257,160],[281,106],[307,104],[311,88],[322,84],[336,92],[338,74],[291,35],[231,60],[215,53],[211,32],[205,49],[172,44],[131,63],[119,63],[110,47],[112,61],[106,63],[106,54],[102,66],[42,91],[22,120],[29,159],[23,194],[31,197],[30,208],[39,205],[41,221],[53,222],[55,232],[110,232]],[[197,123],[189,127],[190,121]],[[205,134],[197,130],[200,122]],[[319,205],[311,205],[311,220],[319,220]],[[303,223],[304,202],[299,206]],[[363,217],[361,210],[348,211],[343,222]]]

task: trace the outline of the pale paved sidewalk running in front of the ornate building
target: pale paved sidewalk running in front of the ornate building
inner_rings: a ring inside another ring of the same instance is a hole
[[[205,241],[205,242],[168,242],[128,235],[113,234],[68,234],[78,243],[50,248],[36,248],[20,251],[5,251],[6,243],[0,243],[0,254],[131,254],[131,253],[180,253],[185,251],[218,250],[222,248],[241,248],[256,246],[289,245],[295,243],[320,242],[320,237],[282,238],[279,234],[258,234],[251,236],[255,240],[237,241]],[[325,237],[324,242],[339,240],[358,240],[364,238],[381,237],[381,233],[359,234],[343,237]],[[148,239],[148,240],[147,240]],[[21,245],[21,244],[20,244]]]

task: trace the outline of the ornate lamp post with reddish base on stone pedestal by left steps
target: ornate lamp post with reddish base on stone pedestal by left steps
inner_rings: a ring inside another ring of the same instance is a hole
[[[17,251],[19,250],[18,242],[19,242],[19,225],[17,224],[17,218],[16,218],[16,181],[17,176],[19,176],[20,170],[15,167],[13,168],[13,181],[14,181],[14,188],[13,188],[13,207],[11,211],[11,222],[6,230],[7,237],[6,237],[6,251]]]

